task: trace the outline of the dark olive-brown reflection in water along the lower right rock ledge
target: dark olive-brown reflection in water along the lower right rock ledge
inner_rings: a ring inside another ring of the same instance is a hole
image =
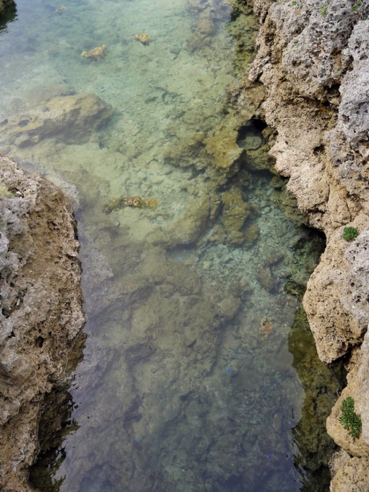
[[[337,447],[327,434],[326,419],[344,386],[343,364],[327,365],[319,359],[303,307],[289,332],[288,350],[306,395],[301,419],[292,429],[299,449],[295,466],[302,476],[301,490],[325,492],[330,483],[328,461]]]

